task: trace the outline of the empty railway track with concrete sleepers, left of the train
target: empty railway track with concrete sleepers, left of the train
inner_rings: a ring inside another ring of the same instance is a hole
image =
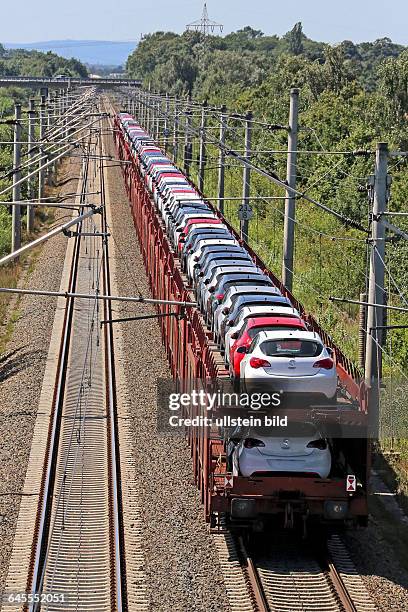
[[[54,387],[35,546],[27,591],[30,612],[127,609],[121,479],[110,302],[105,184],[100,133],[86,143],[79,205],[86,193],[100,215],[74,240],[58,373]]]

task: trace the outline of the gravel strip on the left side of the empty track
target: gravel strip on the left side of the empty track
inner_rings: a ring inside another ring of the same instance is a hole
[[[59,174],[61,187],[54,193],[74,193],[78,172],[77,160],[65,161]],[[71,214],[59,210],[53,225]],[[25,263],[19,286],[58,291],[66,247],[67,238],[62,235],[46,242],[35,261],[29,258]],[[14,329],[0,357],[0,593],[7,577],[56,304],[56,298],[28,295],[10,302]]]

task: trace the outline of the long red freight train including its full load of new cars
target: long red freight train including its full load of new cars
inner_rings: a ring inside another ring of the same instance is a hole
[[[184,408],[207,521],[365,525],[370,441],[359,371],[131,115],[116,116],[114,134],[153,297],[197,304],[157,307],[178,389],[283,402],[256,414],[239,400]],[[284,415],[289,425],[268,429]]]

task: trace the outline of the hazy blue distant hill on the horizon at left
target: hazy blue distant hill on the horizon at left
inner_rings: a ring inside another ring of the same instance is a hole
[[[48,40],[34,43],[4,43],[6,49],[52,51],[86,64],[121,66],[137,47],[137,42],[112,40]]]

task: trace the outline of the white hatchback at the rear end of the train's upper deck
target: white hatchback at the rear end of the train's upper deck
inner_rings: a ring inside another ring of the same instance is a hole
[[[273,387],[283,393],[336,397],[337,372],[321,338],[309,331],[267,331],[255,336],[241,361],[247,390]]]

